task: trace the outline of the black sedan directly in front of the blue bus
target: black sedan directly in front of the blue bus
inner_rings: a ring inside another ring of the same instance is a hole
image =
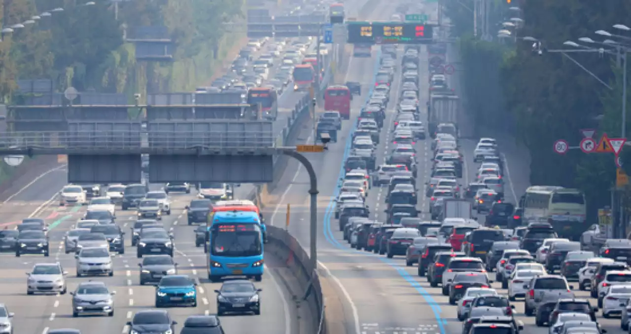
[[[261,314],[261,297],[254,283],[249,280],[229,280],[223,282],[217,294],[217,314],[222,316],[228,312],[252,312]]]

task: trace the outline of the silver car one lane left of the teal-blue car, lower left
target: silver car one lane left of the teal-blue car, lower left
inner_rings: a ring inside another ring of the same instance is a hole
[[[79,314],[107,314],[114,316],[114,299],[103,282],[81,282],[73,295],[73,317]]]

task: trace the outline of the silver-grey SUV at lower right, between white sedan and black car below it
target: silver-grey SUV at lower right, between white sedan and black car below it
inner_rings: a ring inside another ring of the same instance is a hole
[[[567,285],[565,277],[560,275],[541,275],[534,277],[529,283],[524,284],[528,290],[524,301],[524,313],[533,316],[534,310],[540,304],[550,299],[574,298],[572,285]]]

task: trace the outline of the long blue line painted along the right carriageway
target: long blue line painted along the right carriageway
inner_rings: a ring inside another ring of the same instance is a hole
[[[377,71],[379,71],[379,58],[381,56],[381,51],[378,50],[377,52],[375,52],[376,54],[376,58],[377,60],[375,61],[375,66],[374,66],[374,79],[373,81],[375,81],[375,78],[377,76]],[[374,89],[374,85],[370,85],[370,89],[369,89],[369,93],[367,94],[367,98],[366,101],[364,103],[367,104],[368,100],[370,98],[370,95],[372,95],[372,91]],[[362,107],[363,108],[363,107]],[[353,122],[353,125],[351,126],[351,134],[353,133],[353,131],[355,131],[355,129],[357,128],[357,122]],[[351,149],[351,143],[352,143],[352,138],[353,136],[348,136],[346,143],[345,143],[345,148],[344,148],[344,155],[342,158],[342,164],[339,167],[339,177],[338,179],[343,179],[343,177],[345,176],[345,169],[344,169],[344,162],[346,161],[346,158],[348,158],[348,155],[350,153],[350,149]],[[335,205],[335,198],[338,197],[339,192],[341,189],[341,184],[338,184],[335,188],[334,194],[331,197],[331,200],[329,201],[329,205],[327,205],[326,207],[326,212],[324,213],[324,218],[323,218],[323,223],[324,223],[324,237],[327,240],[327,242],[329,242],[329,244],[333,245],[334,247],[340,249],[341,251],[345,251],[348,253],[360,253],[363,256],[373,256],[378,258],[380,261],[382,261],[383,263],[386,263],[387,265],[391,266],[392,268],[394,268],[396,270],[396,272],[399,274],[399,276],[401,276],[401,278],[403,278],[404,280],[406,280],[406,282],[410,283],[410,286],[413,287],[416,292],[418,292],[418,294],[422,295],[423,299],[425,299],[425,302],[427,302],[427,304],[432,308],[434,317],[436,319],[437,325],[439,326],[439,330],[440,333],[442,334],[446,334],[445,331],[445,327],[444,325],[447,323],[446,319],[443,319],[440,316],[440,313],[442,313],[439,304],[433,299],[432,295],[430,295],[427,290],[425,290],[425,288],[423,288],[421,286],[421,284],[416,281],[411,275],[410,273],[408,273],[405,268],[403,268],[401,265],[398,265],[398,263],[392,261],[391,259],[387,259],[387,258],[383,258],[382,256],[379,256],[379,254],[372,254],[372,253],[366,253],[363,251],[358,251],[357,249],[350,249],[348,247],[346,247],[345,245],[341,244],[334,236],[333,234],[333,230],[331,229],[331,220],[332,220],[332,215],[333,215],[333,208]]]

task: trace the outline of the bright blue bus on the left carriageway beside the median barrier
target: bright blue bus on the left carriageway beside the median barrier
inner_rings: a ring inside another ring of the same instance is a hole
[[[256,212],[215,212],[208,230],[208,280],[263,275],[261,220]]]

